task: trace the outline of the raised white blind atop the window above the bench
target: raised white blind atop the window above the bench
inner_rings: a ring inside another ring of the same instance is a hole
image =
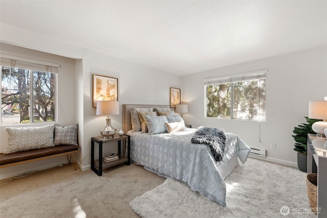
[[[56,72],[56,73],[58,72],[58,66],[59,66],[57,64],[53,64],[54,66],[51,66],[51,65],[37,63],[37,61],[33,63],[33,62],[27,62],[27,61],[15,60],[15,59],[3,58],[3,57],[1,57],[0,59],[0,64],[2,66],[17,67],[22,69],[31,69],[31,70],[44,71],[44,72]]]

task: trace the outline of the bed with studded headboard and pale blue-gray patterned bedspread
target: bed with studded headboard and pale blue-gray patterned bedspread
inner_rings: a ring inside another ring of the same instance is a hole
[[[200,195],[226,206],[224,179],[238,165],[238,159],[242,163],[246,162],[250,148],[236,134],[225,133],[223,159],[216,161],[207,145],[191,142],[197,129],[185,128],[174,133],[153,134],[153,125],[148,122],[149,133],[133,130],[132,119],[135,120],[135,109],[150,111],[153,108],[167,110],[169,106],[123,105],[123,128],[131,137],[131,161],[143,165],[145,169],[159,176],[183,181]],[[154,117],[154,114],[151,118],[164,119],[164,117]],[[166,114],[166,117],[177,117],[172,114]],[[145,116],[148,121],[150,115]]]

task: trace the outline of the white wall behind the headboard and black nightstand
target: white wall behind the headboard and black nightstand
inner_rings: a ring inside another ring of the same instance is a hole
[[[169,105],[170,87],[180,87],[181,77],[156,69],[88,51],[83,57],[83,154],[81,168],[90,168],[91,137],[99,136],[105,127],[106,116],[96,116],[92,108],[92,75],[118,78],[119,115],[111,115],[111,125],[118,131],[123,128],[123,104]],[[116,142],[105,144],[104,152],[117,152]],[[97,152],[96,147],[96,152]]]

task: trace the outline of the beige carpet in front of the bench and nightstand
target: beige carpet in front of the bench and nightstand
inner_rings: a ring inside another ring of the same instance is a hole
[[[164,181],[135,164],[104,169],[101,177],[67,164],[0,185],[0,216],[138,217],[129,203]]]

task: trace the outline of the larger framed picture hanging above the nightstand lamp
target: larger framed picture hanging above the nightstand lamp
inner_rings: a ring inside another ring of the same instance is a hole
[[[93,107],[97,101],[118,101],[118,79],[93,75]]]

